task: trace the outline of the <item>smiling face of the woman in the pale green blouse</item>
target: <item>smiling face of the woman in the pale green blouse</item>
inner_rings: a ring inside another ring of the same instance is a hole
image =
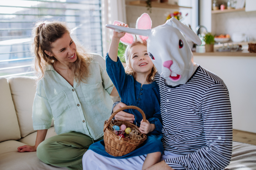
[[[49,56],[54,56],[59,62],[65,65],[76,61],[76,44],[68,33],[63,34],[61,38],[52,42],[52,52],[45,52]]]

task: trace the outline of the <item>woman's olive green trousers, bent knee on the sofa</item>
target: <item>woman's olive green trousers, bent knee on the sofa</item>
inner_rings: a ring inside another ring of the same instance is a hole
[[[103,136],[93,141],[83,133],[63,133],[41,142],[37,148],[37,156],[46,164],[67,167],[70,170],[82,170],[84,153],[93,142],[102,139]]]

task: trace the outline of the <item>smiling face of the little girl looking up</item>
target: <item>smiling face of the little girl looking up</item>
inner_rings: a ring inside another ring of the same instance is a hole
[[[131,47],[130,63],[136,73],[150,74],[154,64],[148,56],[145,45],[135,45]]]

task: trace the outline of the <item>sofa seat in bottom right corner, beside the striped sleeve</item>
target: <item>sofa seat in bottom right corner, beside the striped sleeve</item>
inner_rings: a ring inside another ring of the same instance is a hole
[[[256,145],[233,141],[232,158],[225,170],[256,170]]]

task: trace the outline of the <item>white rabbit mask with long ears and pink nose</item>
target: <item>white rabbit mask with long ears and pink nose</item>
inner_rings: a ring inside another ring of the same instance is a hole
[[[113,25],[106,25],[106,27],[118,32],[148,37],[148,54],[161,77],[169,82],[185,84],[191,77],[193,54],[188,42],[180,32],[198,45],[201,45],[202,42],[190,28],[175,17],[153,29],[135,29]]]

